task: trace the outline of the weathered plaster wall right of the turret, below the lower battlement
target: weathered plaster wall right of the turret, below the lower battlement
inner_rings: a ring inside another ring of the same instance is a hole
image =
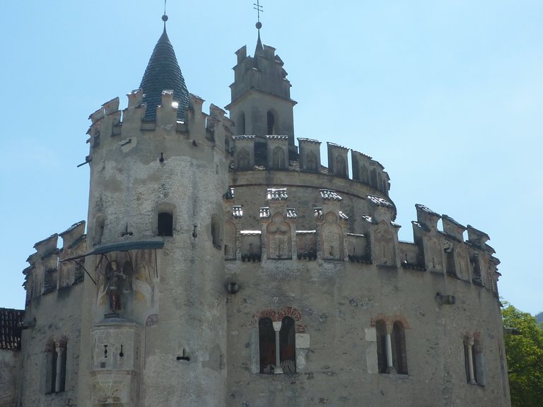
[[[240,285],[228,296],[228,406],[508,406],[499,306],[489,290],[444,274],[345,261],[226,266]],[[457,303],[438,304],[437,292]],[[286,307],[300,311],[310,346],[299,350],[296,374],[259,374],[255,314]],[[380,315],[407,323],[407,375],[376,373],[372,320]],[[480,335],[485,387],[466,382],[468,332]]]

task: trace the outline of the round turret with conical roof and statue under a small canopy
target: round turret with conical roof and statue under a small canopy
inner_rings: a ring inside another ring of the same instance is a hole
[[[128,107],[116,98],[91,114],[88,406],[224,406],[230,122],[203,102],[164,26]]]

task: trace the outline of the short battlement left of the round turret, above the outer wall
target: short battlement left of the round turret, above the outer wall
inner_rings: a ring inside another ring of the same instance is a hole
[[[30,265],[23,270],[27,306],[34,298],[83,281],[83,266],[76,259],[86,253],[85,225],[81,220],[34,245],[36,252],[28,256]],[[60,248],[57,247],[59,236],[62,237]]]

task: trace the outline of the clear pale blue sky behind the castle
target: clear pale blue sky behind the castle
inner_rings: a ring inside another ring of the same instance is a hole
[[[169,1],[189,91],[230,102],[252,0]],[[136,89],[162,32],[156,1],[0,6],[0,306],[23,307],[35,242],[86,218],[88,114]],[[293,88],[297,137],[373,156],[412,241],[414,204],[487,232],[501,295],[543,311],[543,2],[263,0],[262,41]],[[323,148],[324,150],[325,148]],[[324,151],[323,151],[324,153]]]

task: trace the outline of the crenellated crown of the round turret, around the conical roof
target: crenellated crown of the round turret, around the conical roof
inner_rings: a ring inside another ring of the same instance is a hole
[[[173,100],[173,90],[163,90],[162,103],[156,109],[156,119],[145,119],[146,103],[141,89],[127,95],[128,106],[119,110],[119,98],[105,102],[100,109],[89,116],[91,126],[87,134],[90,137],[92,160],[93,151],[110,144],[121,143],[128,146],[136,143],[138,136],[154,131],[163,136],[177,134],[191,139],[194,143],[207,142],[221,150],[232,134],[233,122],[226,117],[226,112],[216,105],[210,105],[209,114],[202,111],[204,100],[197,95],[189,95],[189,106],[185,120],[177,120],[179,103]],[[127,147],[128,148],[128,147]]]

